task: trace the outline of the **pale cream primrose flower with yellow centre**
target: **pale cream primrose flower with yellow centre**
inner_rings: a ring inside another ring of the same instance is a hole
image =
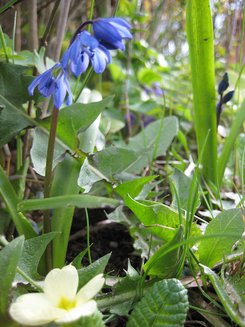
[[[52,321],[68,323],[90,316],[96,309],[91,298],[101,290],[103,274],[93,277],[77,293],[78,272],[74,266],[50,271],[44,281],[44,293],[28,293],[17,298],[10,307],[10,316],[17,322],[37,326]]]

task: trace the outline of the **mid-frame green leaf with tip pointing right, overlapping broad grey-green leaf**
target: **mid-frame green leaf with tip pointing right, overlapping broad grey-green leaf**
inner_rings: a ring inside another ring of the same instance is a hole
[[[149,148],[139,149],[140,148],[129,150],[119,147],[110,147],[91,154],[88,161],[89,164],[99,170],[104,177],[110,179],[114,174],[118,174],[127,169],[140,156],[151,151]]]

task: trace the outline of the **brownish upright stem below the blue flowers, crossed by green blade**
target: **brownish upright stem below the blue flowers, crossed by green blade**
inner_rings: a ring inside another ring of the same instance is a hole
[[[53,167],[53,157],[55,149],[55,136],[58,122],[59,110],[54,106],[52,122],[50,127],[50,137],[48,138],[47,145],[47,159],[46,159],[46,169],[45,169],[45,182],[44,182],[44,199],[50,198],[51,193],[51,179],[52,179],[52,167]],[[43,211],[43,233],[51,232],[50,225],[50,210]],[[45,264],[46,272],[52,270],[53,268],[52,260],[52,243],[48,244],[45,250]]]

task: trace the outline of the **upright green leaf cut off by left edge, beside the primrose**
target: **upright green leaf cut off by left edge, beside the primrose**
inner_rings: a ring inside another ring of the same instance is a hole
[[[0,252],[0,313],[6,318],[11,299],[11,287],[16,273],[16,267],[20,258],[24,243],[24,237],[20,236],[10,242]]]

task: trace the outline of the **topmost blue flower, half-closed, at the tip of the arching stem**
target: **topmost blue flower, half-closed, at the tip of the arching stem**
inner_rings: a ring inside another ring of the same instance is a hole
[[[122,39],[132,39],[129,29],[132,27],[122,18],[98,18],[93,19],[94,36],[107,49],[125,50]]]

